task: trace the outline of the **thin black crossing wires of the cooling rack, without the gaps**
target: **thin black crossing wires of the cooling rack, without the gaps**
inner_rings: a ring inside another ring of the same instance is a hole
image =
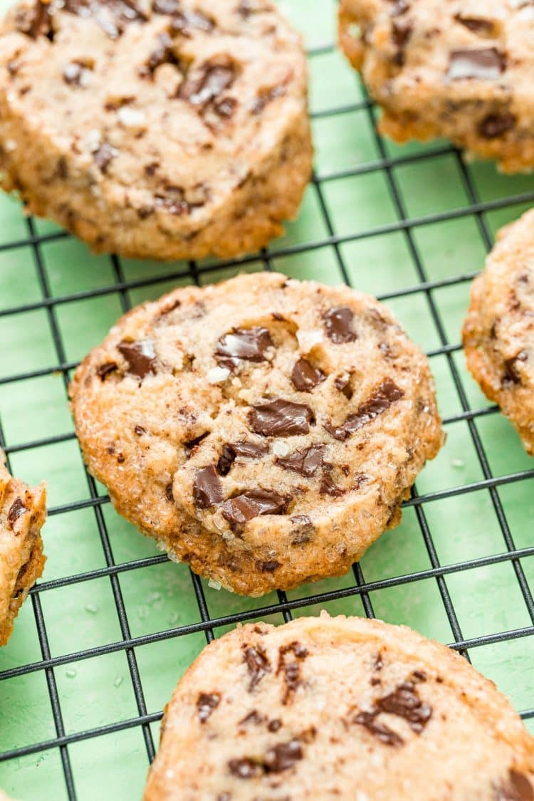
[[[319,55],[328,54],[334,49],[333,45],[315,47],[309,50],[310,58],[315,58]],[[350,284],[349,273],[347,266],[344,263],[343,255],[340,246],[344,243],[355,241],[356,239],[364,239],[371,236],[381,234],[388,234],[394,231],[402,231],[408,245],[408,250],[412,257],[412,262],[416,268],[418,281],[412,286],[401,288],[395,292],[390,292],[379,296],[379,300],[392,300],[409,295],[423,296],[428,310],[432,316],[433,324],[436,328],[437,335],[440,340],[440,346],[428,351],[428,356],[432,359],[435,356],[444,356],[448,362],[448,368],[452,376],[454,387],[462,411],[444,419],[444,425],[454,424],[458,421],[467,421],[470,436],[472,437],[472,444],[476,451],[476,458],[479,461],[482,474],[484,476],[480,481],[475,481],[469,484],[459,485],[451,489],[440,489],[434,492],[419,495],[414,488],[412,490],[412,497],[404,503],[405,507],[414,507],[416,510],[416,518],[420,525],[420,531],[424,539],[425,547],[428,551],[428,557],[432,565],[427,570],[418,570],[410,574],[402,574],[393,578],[384,578],[382,580],[366,582],[361,567],[356,564],[353,566],[355,577],[355,586],[351,586],[341,590],[333,590],[331,592],[322,594],[311,594],[306,598],[295,598],[289,601],[286,594],[279,591],[278,602],[268,606],[259,606],[255,610],[246,610],[236,614],[228,614],[219,618],[210,618],[206,598],[203,594],[203,586],[199,578],[191,573],[191,581],[195,598],[199,607],[200,620],[184,626],[176,626],[167,630],[155,632],[152,634],[144,634],[138,637],[132,637],[130,634],[130,625],[126,616],[126,608],[122,598],[122,591],[118,582],[118,576],[126,571],[143,570],[147,566],[153,566],[162,562],[167,562],[167,556],[158,555],[154,557],[147,557],[136,559],[130,562],[124,562],[116,565],[114,563],[113,553],[110,547],[110,539],[106,529],[106,522],[102,513],[102,506],[109,502],[109,497],[98,495],[94,479],[86,473],[87,497],[79,501],[70,502],[65,505],[59,505],[49,509],[49,516],[66,513],[75,509],[94,509],[95,522],[98,529],[99,537],[102,541],[102,549],[105,556],[106,566],[90,570],[84,573],[66,576],[64,578],[57,578],[53,581],[39,582],[37,586],[31,590],[31,601],[33,603],[35,621],[38,630],[38,640],[41,647],[42,659],[38,662],[32,662],[22,666],[16,666],[9,670],[0,672],[0,682],[15,676],[22,676],[30,674],[35,671],[44,671],[46,675],[46,683],[48,692],[50,694],[50,704],[54,716],[54,725],[56,736],[40,743],[34,743],[24,747],[18,747],[10,751],[0,753],[0,762],[17,759],[25,755],[36,754],[40,751],[58,748],[62,759],[62,769],[65,777],[66,794],[70,801],[77,798],[76,790],[74,787],[73,772],[70,766],[70,757],[68,747],[71,743],[77,743],[82,740],[87,740],[102,735],[110,734],[117,731],[123,731],[133,727],[141,727],[144,736],[144,742],[147,749],[147,756],[152,760],[155,755],[155,744],[151,734],[150,724],[159,720],[162,717],[162,712],[155,712],[147,714],[147,706],[143,696],[143,686],[139,675],[139,670],[135,658],[135,647],[143,646],[148,643],[160,642],[168,638],[178,638],[194,632],[204,632],[207,642],[210,642],[214,637],[214,630],[227,626],[228,624],[235,624],[244,622],[253,618],[264,618],[267,615],[281,613],[285,620],[291,619],[291,611],[303,606],[308,606],[311,603],[326,603],[334,601],[339,598],[350,598],[359,596],[363,602],[363,609],[367,617],[374,617],[374,611],[369,594],[371,591],[382,590],[385,588],[410,584],[418,582],[421,579],[434,578],[436,579],[440,596],[444,604],[444,609],[447,614],[448,622],[450,623],[454,642],[450,646],[459,650],[468,658],[468,650],[476,648],[477,646],[484,646],[492,643],[506,642],[516,638],[524,638],[534,635],[534,599],[532,598],[531,590],[528,586],[528,581],[525,578],[524,570],[520,563],[521,557],[534,556],[534,545],[518,549],[514,543],[512,533],[510,532],[506,515],[497,493],[497,488],[501,485],[507,485],[516,481],[524,481],[529,478],[534,478],[534,468],[521,470],[515,473],[509,473],[504,476],[494,477],[488,463],[488,457],[484,451],[483,443],[480,435],[477,432],[474,421],[476,418],[483,417],[496,413],[496,406],[488,406],[480,409],[472,409],[468,402],[468,396],[465,392],[464,385],[456,368],[454,362],[454,354],[460,350],[461,345],[457,342],[450,343],[445,332],[444,323],[440,315],[440,309],[436,304],[433,296],[434,290],[463,284],[469,282],[476,275],[475,272],[464,273],[444,280],[429,280],[424,269],[423,261],[420,258],[416,241],[413,236],[413,231],[419,227],[424,227],[432,223],[444,222],[452,219],[460,219],[462,217],[474,215],[477,225],[480,229],[480,234],[484,241],[487,250],[492,245],[492,235],[488,230],[484,214],[488,211],[504,207],[512,207],[519,203],[534,203],[534,191],[529,191],[520,195],[512,195],[507,198],[491,200],[488,202],[481,202],[477,195],[476,185],[472,179],[470,168],[466,166],[462,160],[460,153],[455,148],[449,146],[436,145],[428,151],[418,152],[414,155],[399,155],[395,157],[388,157],[386,147],[384,146],[383,139],[379,135],[375,127],[375,109],[369,99],[364,99],[359,103],[352,103],[346,106],[331,107],[325,111],[319,111],[312,115],[315,119],[323,117],[331,117],[340,115],[349,111],[364,111],[367,113],[371,122],[371,127],[375,139],[379,159],[364,163],[352,169],[345,169],[340,171],[331,171],[323,175],[314,175],[313,185],[319,200],[319,207],[321,209],[324,223],[327,227],[327,236],[313,241],[307,241],[303,244],[294,244],[284,248],[269,248],[263,251],[259,256],[251,255],[246,258],[235,262],[232,260],[218,261],[209,266],[199,266],[194,262],[187,264],[187,266],[179,267],[178,269],[169,268],[168,272],[160,276],[145,277],[140,280],[125,280],[122,273],[122,266],[120,260],[116,256],[111,256],[111,265],[114,273],[114,283],[109,286],[104,286],[97,289],[91,289],[84,292],[74,292],[63,296],[53,296],[50,292],[49,279],[46,273],[46,265],[42,259],[41,248],[42,244],[50,242],[54,239],[62,239],[68,236],[65,232],[54,232],[51,234],[38,235],[34,224],[34,219],[28,218],[26,220],[27,237],[26,239],[18,239],[4,244],[0,244],[0,252],[10,251],[14,248],[30,245],[33,250],[34,266],[38,276],[38,283],[42,292],[42,299],[32,303],[20,304],[11,308],[0,310],[0,317],[17,315],[22,312],[31,310],[45,310],[50,326],[50,333],[54,341],[54,348],[56,353],[56,363],[50,364],[47,367],[34,369],[29,372],[19,372],[14,375],[0,378],[0,384],[10,384],[17,381],[28,380],[38,376],[47,376],[52,372],[60,372],[62,374],[65,390],[69,383],[69,375],[72,368],[76,364],[72,361],[66,360],[66,352],[62,341],[62,334],[58,325],[56,317],[56,310],[62,304],[70,303],[76,300],[84,300],[98,296],[110,295],[118,293],[122,304],[122,309],[126,311],[130,308],[128,300],[128,292],[133,289],[143,288],[155,284],[163,284],[169,280],[189,279],[195,284],[199,284],[200,277],[209,279],[212,272],[219,271],[221,268],[245,266],[253,262],[261,260],[263,268],[271,270],[271,260],[283,257],[292,256],[299,253],[310,252],[312,250],[331,246],[335,252],[335,259],[339,266],[339,270],[343,276],[343,280]],[[441,211],[439,213],[432,213],[425,216],[418,216],[410,218],[407,214],[406,207],[399,186],[395,178],[394,168],[401,165],[420,162],[424,159],[434,159],[436,156],[441,155],[454,155],[457,159],[460,168],[460,175],[464,183],[464,189],[468,195],[468,205],[461,208],[456,208],[452,211]],[[387,223],[378,227],[372,227],[368,230],[359,231],[350,235],[336,235],[335,228],[332,224],[331,215],[328,211],[327,203],[323,194],[324,185],[332,180],[340,178],[354,177],[356,175],[363,175],[365,173],[372,173],[382,171],[387,178],[387,187],[391,195],[392,202],[395,207],[396,217],[394,222]],[[6,446],[2,424],[0,422],[0,446],[2,446],[8,455],[10,453],[17,453],[23,450],[44,447],[46,445],[54,445],[59,442],[74,439],[74,433],[65,433],[63,435],[44,437],[39,440],[21,442],[16,445]],[[436,547],[432,540],[432,532],[427,521],[425,514],[425,504],[430,501],[437,501],[447,497],[452,497],[464,493],[488,492],[490,494],[492,505],[496,513],[496,518],[500,525],[500,530],[503,537],[504,549],[502,553],[492,554],[491,556],[477,557],[468,559],[462,562],[456,562],[447,566],[441,566],[436,553]],[[472,570],[473,568],[495,565],[501,562],[509,562],[513,566],[516,574],[516,579],[520,587],[520,592],[524,598],[524,603],[528,610],[528,616],[531,620],[531,625],[522,628],[508,630],[499,634],[486,634],[474,638],[464,638],[460,623],[456,615],[456,610],[452,603],[452,598],[448,593],[448,588],[445,582],[445,577],[456,574],[460,571]],[[78,650],[70,654],[62,654],[58,657],[50,655],[50,648],[48,645],[48,638],[46,633],[45,619],[42,614],[42,606],[40,596],[49,590],[54,590],[58,587],[69,586],[77,584],[78,582],[87,582],[95,578],[109,577],[110,586],[113,593],[114,605],[118,615],[122,639],[118,642],[106,643],[105,645],[95,646],[86,650]],[[122,720],[116,723],[110,723],[105,726],[92,727],[86,731],[79,731],[74,734],[66,735],[63,721],[62,710],[58,695],[58,689],[54,678],[54,670],[59,666],[66,665],[67,663],[78,662],[79,660],[92,658],[102,654],[111,654],[115,651],[124,651],[130,670],[130,678],[135,693],[135,701],[137,704],[138,714],[134,718]],[[534,708],[524,710],[522,717],[534,718]]]

